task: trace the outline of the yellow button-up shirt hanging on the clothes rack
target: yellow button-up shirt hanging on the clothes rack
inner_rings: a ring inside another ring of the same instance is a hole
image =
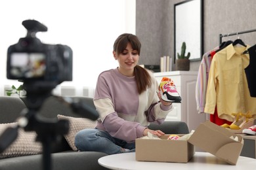
[[[256,97],[251,97],[245,75],[249,65],[249,54],[241,55],[249,46],[228,45],[217,52],[211,61],[205,112],[214,114],[217,105],[218,116],[233,122],[233,112],[251,110],[256,116]],[[256,87],[255,87],[256,88]]]

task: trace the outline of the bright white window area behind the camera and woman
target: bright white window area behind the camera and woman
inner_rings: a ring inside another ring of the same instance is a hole
[[[43,43],[67,44],[72,48],[73,81],[60,86],[81,89],[84,86],[94,88],[100,72],[117,66],[111,59],[117,35],[135,33],[135,0],[1,1],[0,15],[8,16],[1,17],[0,96],[4,85],[20,84],[7,80],[6,59],[7,48],[26,36],[23,20],[38,20],[48,27],[47,33],[37,33]]]

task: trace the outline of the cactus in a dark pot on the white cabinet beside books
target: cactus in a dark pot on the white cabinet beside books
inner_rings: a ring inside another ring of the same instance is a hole
[[[190,69],[190,52],[185,56],[186,53],[186,42],[182,42],[181,55],[178,54],[178,59],[176,60],[176,70],[179,71],[189,71]]]

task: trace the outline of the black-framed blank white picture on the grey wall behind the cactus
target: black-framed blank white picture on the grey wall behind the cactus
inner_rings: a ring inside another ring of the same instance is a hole
[[[181,54],[182,42],[186,42],[186,54],[190,61],[203,56],[203,0],[187,0],[174,5],[174,56]],[[186,55],[185,54],[185,55]]]

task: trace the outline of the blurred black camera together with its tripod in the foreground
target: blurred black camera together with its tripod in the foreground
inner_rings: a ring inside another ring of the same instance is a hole
[[[35,131],[37,141],[43,145],[43,168],[51,169],[51,146],[58,142],[58,137],[68,133],[68,120],[43,118],[37,114],[45,99],[51,97],[51,91],[64,81],[72,81],[72,49],[62,44],[44,44],[37,37],[39,31],[47,27],[36,20],[24,20],[22,25],[27,29],[26,37],[9,46],[7,51],[7,78],[24,82],[26,97],[22,100],[26,109],[16,120],[18,125],[8,127],[0,135],[0,153],[18,136],[18,129]],[[69,105],[74,112],[85,118],[96,120],[98,112],[85,105],[79,99],[53,96]]]

